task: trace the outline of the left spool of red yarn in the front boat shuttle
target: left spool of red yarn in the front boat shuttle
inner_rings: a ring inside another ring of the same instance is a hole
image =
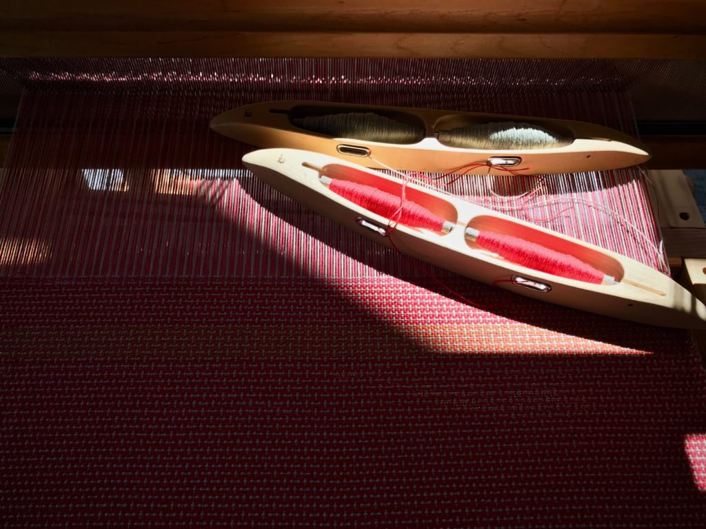
[[[392,193],[387,193],[372,186],[364,186],[363,184],[347,180],[332,179],[328,188],[337,195],[355,202],[360,207],[364,207],[396,223],[405,224],[405,226],[441,231],[445,222],[443,217],[433,214],[429,209],[417,204],[417,202],[400,199],[400,197]],[[400,206],[402,207],[400,208]]]

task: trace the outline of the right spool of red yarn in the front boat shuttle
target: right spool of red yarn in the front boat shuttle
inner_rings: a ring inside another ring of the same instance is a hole
[[[600,284],[605,274],[573,255],[550,250],[537,243],[492,231],[481,231],[476,242],[486,250],[500,255],[517,265],[548,272],[556,276]]]

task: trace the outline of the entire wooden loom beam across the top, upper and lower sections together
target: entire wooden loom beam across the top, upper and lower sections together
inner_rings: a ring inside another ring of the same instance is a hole
[[[0,56],[706,58],[693,0],[25,0]]]

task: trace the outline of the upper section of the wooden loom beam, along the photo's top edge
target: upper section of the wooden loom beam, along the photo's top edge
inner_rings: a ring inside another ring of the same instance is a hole
[[[694,0],[23,0],[9,31],[703,34]]]

